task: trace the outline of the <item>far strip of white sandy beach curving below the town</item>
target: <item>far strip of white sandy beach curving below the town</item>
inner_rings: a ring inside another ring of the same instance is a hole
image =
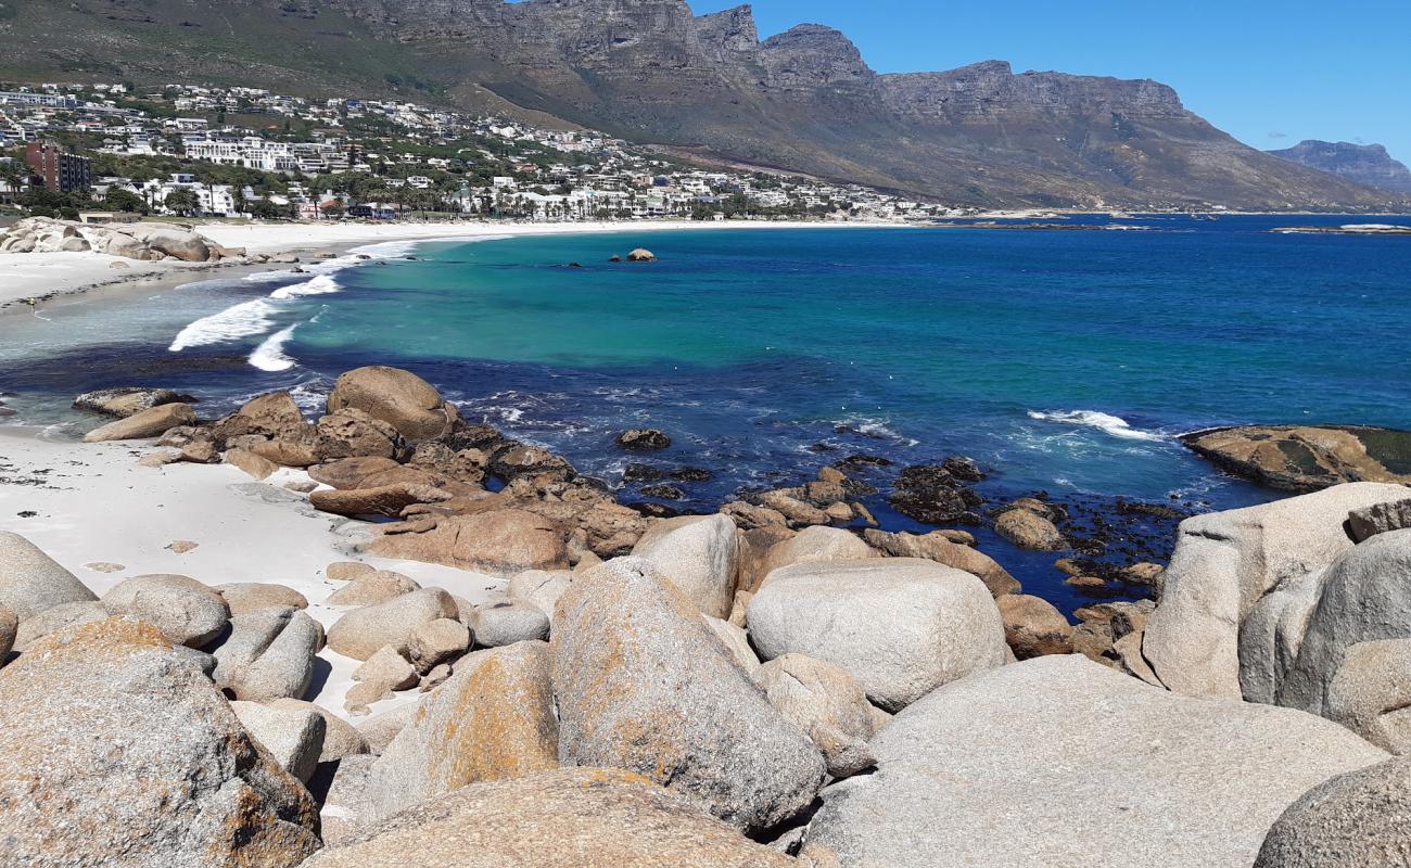
[[[787,230],[787,229],[912,229],[907,223],[824,223],[824,222],[724,222],[655,220],[643,223],[195,223],[195,231],[223,247],[244,247],[247,254],[350,253],[373,244],[432,241],[478,241],[547,234],[614,234],[636,231],[700,230]],[[127,265],[114,274],[113,264]],[[0,255],[0,322],[31,309],[27,299],[44,305],[86,301],[96,289],[114,287],[169,289],[205,279],[202,275],[240,270],[240,274],[288,270],[277,263],[145,263],[99,253],[24,253]],[[107,278],[107,279],[104,279]],[[148,282],[152,281],[152,282]]]

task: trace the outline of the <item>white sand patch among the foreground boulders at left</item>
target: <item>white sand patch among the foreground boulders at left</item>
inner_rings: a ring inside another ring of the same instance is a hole
[[[373,525],[317,512],[306,495],[284,488],[285,481],[308,480],[303,471],[281,470],[261,483],[229,464],[141,467],[137,460],[152,450],[150,442],[83,445],[45,436],[0,428],[0,531],[25,536],[99,596],[144,573],[178,573],[206,584],[270,581],[298,590],[309,600],[309,614],[330,627],[349,611],[323,605],[343,586],[325,577],[334,560],[396,570],[471,603],[504,596],[504,579],[360,555],[356,546]],[[196,548],[178,553],[176,542]],[[316,676],[305,699],[349,717],[343,697],[358,661],[329,649],[319,656],[329,672]],[[419,697],[415,689],[402,692],[373,713]]]

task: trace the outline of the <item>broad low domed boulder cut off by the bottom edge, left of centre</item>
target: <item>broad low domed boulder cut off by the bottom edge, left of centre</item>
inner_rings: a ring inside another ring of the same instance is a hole
[[[621,769],[461,788],[316,854],[303,868],[804,868]]]

